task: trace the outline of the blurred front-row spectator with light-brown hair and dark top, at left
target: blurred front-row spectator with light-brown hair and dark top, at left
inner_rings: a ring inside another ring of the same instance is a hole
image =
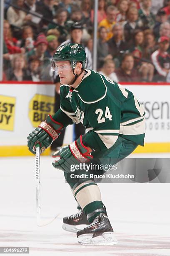
[[[27,81],[32,80],[28,69],[26,69],[26,60],[23,54],[15,54],[12,59],[13,70],[8,74],[8,80]]]

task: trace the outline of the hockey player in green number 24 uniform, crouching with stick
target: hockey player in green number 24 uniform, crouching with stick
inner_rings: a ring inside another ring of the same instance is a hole
[[[86,54],[80,44],[60,46],[52,59],[52,68],[60,76],[60,110],[32,131],[28,148],[35,144],[43,152],[58,138],[62,128],[81,122],[88,132],[53,154],[52,165],[64,172],[78,203],[77,214],[63,218],[65,230],[77,231],[81,244],[115,244],[113,229],[94,179],[71,179],[71,168],[79,164],[116,164],[144,145],[145,110],[132,92],[93,70],[85,69]],[[94,170],[90,169],[91,173]],[[101,174],[104,171],[95,170]],[[76,169],[75,174],[81,173]]]

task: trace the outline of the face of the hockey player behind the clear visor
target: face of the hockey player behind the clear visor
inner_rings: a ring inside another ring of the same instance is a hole
[[[55,66],[60,77],[60,83],[70,84],[75,78],[74,74],[72,73],[70,61],[56,61]]]

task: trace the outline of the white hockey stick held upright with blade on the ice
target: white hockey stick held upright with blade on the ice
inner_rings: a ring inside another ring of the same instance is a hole
[[[59,214],[57,214],[52,220],[50,220],[50,222],[44,222],[41,218],[40,218],[40,144],[36,143],[35,144],[35,148],[36,148],[36,155],[35,155],[35,177],[36,177],[36,209],[37,209],[37,226],[39,227],[44,227],[50,223],[52,223]]]

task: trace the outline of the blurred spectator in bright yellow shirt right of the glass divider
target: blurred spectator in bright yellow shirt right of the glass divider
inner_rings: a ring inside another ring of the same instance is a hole
[[[113,36],[112,27],[116,23],[116,15],[117,8],[115,6],[109,5],[106,9],[106,18],[99,23],[99,28],[105,27],[107,30],[107,40],[109,40]]]

